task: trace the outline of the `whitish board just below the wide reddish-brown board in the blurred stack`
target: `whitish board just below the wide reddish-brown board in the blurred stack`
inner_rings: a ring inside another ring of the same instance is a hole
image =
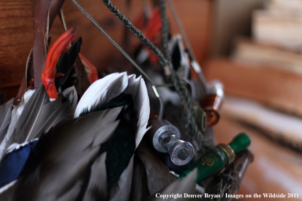
[[[302,153],[302,119],[243,98],[226,96],[221,114],[257,128],[275,142]]]

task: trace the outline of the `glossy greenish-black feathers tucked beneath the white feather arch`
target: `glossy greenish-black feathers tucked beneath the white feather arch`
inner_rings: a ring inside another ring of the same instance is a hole
[[[105,163],[108,191],[110,191],[112,186],[118,181],[134,154],[138,112],[134,109],[132,96],[127,93],[121,93],[117,97],[112,98],[109,103],[97,105],[90,110],[90,112],[96,112],[120,106],[124,106],[124,108],[116,119],[119,120],[119,124],[112,138],[102,144],[99,151],[99,154],[107,152]],[[80,116],[90,112],[88,112],[88,109],[85,109]]]

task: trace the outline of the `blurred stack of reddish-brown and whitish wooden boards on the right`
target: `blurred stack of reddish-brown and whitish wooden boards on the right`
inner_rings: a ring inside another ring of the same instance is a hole
[[[239,130],[251,136],[254,162],[238,194],[301,193],[301,11],[299,0],[268,1],[253,12],[252,38],[235,37],[230,57],[204,64],[206,79],[221,80],[227,95],[218,143]]]

